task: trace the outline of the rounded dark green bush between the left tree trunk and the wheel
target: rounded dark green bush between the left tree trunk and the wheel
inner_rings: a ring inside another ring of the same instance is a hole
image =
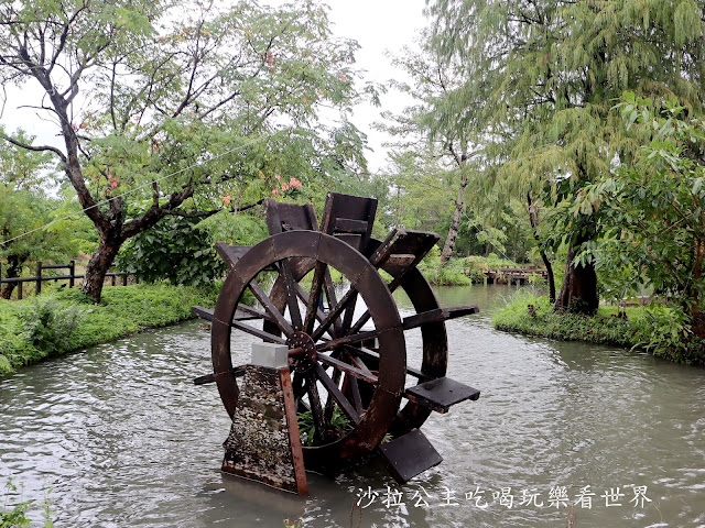
[[[197,222],[182,217],[162,219],[123,244],[116,265],[150,283],[164,279],[192,286],[213,283],[225,274],[227,266],[217,257],[208,233],[196,228]]]

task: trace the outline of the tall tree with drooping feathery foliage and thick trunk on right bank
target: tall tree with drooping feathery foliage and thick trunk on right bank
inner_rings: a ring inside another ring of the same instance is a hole
[[[557,205],[631,158],[611,107],[625,90],[703,108],[702,0],[429,0],[432,46],[465,82],[497,185]],[[568,210],[570,208],[565,208]],[[568,246],[557,309],[597,309],[595,263],[577,262],[595,211],[555,227]]]

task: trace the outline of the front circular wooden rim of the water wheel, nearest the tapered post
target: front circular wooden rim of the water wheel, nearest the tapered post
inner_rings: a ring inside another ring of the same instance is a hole
[[[316,231],[274,234],[249,250],[228,274],[214,311],[212,359],[218,392],[230,416],[239,388],[232,372],[232,318],[248,285],[267,266],[283,260],[314,258],[341,272],[365,300],[378,333],[380,367],[375,395],[352,431],[334,442],[305,448],[307,463],[355,458],[373,450],[388,432],[401,404],[406,374],[406,349],[401,318],[391,293],[377,270],[345,242]]]

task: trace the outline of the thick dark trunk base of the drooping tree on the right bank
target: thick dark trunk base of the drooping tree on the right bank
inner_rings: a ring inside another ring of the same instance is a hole
[[[576,245],[579,245],[579,243]],[[554,309],[556,311],[568,310],[575,314],[593,315],[599,307],[595,265],[589,263],[586,266],[574,266],[571,264],[573,258],[575,258],[575,246],[571,243],[565,278]]]

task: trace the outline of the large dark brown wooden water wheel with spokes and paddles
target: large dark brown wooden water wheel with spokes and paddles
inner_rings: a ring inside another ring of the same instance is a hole
[[[313,206],[268,200],[270,238],[252,248],[217,244],[231,270],[215,310],[194,307],[213,321],[214,374],[196,383],[216,382],[232,416],[239,396],[232,340],[245,332],[285,344],[294,396],[314,426],[306,468],[339,466],[379,448],[405,482],[441,462],[419,430],[430,413],[479,396],[445,376],[444,324],[478,309],[441,308],[416,267],[438,237],[394,230],[375,240],[376,208],[371,198],[330,194],[319,228]],[[414,315],[400,316],[392,297],[398,288]],[[242,302],[246,292],[258,308]],[[414,328],[421,329],[422,359],[408,365],[404,331]]]

